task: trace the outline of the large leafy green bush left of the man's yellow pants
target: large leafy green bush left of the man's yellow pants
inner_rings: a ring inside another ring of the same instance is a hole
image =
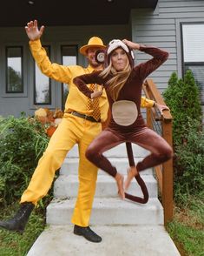
[[[0,203],[19,199],[48,141],[35,118],[0,118]]]

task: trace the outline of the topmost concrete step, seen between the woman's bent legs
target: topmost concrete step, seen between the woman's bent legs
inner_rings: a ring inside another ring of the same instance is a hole
[[[132,144],[133,154],[135,158],[144,158],[149,154],[149,152],[143,149],[139,145]],[[108,158],[127,158],[127,151],[125,143],[121,145],[117,145],[114,148],[110,149],[107,152],[104,152],[104,155]],[[69,151],[68,158],[78,158],[78,145],[74,145],[74,147]]]

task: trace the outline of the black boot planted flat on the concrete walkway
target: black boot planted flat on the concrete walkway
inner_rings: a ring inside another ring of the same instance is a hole
[[[77,226],[74,227],[74,233],[79,236],[83,236],[85,239],[88,239],[91,242],[99,243],[102,241],[102,238],[97,235],[89,226]]]

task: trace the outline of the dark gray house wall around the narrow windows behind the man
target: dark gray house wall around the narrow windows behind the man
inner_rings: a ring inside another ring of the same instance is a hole
[[[46,24],[45,24],[46,25]],[[32,115],[36,110],[34,102],[34,62],[30,54],[29,40],[24,28],[0,28],[0,115],[14,115],[18,117],[21,111]],[[52,62],[61,63],[60,45],[76,44],[81,47],[87,44],[89,37],[102,37],[104,44],[112,38],[131,37],[129,25],[98,25],[98,26],[63,26],[45,27],[42,44],[51,46],[50,59]],[[5,93],[5,46],[23,45],[23,93]],[[86,65],[86,58],[78,56],[78,64]],[[62,107],[61,83],[51,80],[52,104],[43,105],[51,109]],[[41,107],[38,105],[37,107]]]

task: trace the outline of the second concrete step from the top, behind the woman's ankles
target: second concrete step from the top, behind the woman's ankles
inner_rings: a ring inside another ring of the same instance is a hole
[[[140,160],[141,158],[135,158],[135,164]],[[117,168],[118,172],[121,172],[123,175],[127,174],[127,169],[129,167],[128,165],[128,158],[109,158],[109,161],[112,165],[114,165]],[[70,175],[70,174],[77,174],[78,173],[78,164],[79,164],[79,158],[65,158],[63,165],[60,169],[60,173],[63,175]],[[105,172],[102,170],[99,170],[98,174],[104,174]],[[147,169],[142,174],[152,174],[152,169]]]

